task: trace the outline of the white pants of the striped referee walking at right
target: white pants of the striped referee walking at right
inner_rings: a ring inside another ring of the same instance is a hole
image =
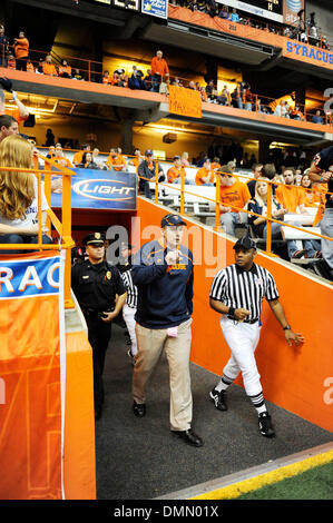
[[[262,392],[261,376],[254,357],[261,334],[258,322],[254,324],[235,323],[233,319],[223,316],[219,324],[223,336],[232,352],[223,374],[234,381],[242,372],[246,394],[248,396],[259,394]]]

